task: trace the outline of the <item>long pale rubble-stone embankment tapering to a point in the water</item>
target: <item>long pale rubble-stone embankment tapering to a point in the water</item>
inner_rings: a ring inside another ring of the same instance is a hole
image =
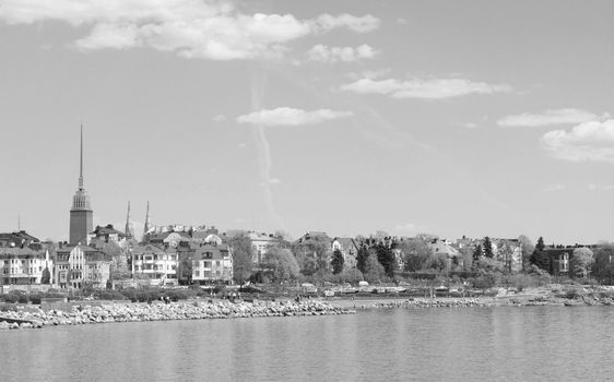
[[[108,322],[143,322],[166,320],[204,320],[259,317],[300,317],[351,314],[354,310],[336,307],[326,301],[302,302],[174,302],[174,303],[113,303],[101,307],[83,305],[71,311],[43,310],[36,312],[2,312],[0,329],[43,327],[50,325],[79,325]],[[25,320],[26,323],[8,323],[2,319]]]

